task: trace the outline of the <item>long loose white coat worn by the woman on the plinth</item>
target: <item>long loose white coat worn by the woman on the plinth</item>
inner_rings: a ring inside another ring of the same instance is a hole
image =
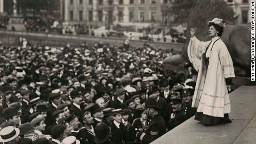
[[[188,56],[198,71],[192,107],[198,107],[197,112],[204,115],[224,117],[224,113],[231,111],[225,78],[235,77],[235,74],[228,48],[217,39],[201,42],[196,37],[190,38]],[[209,65],[206,69],[202,54],[208,46],[211,51],[207,53]]]

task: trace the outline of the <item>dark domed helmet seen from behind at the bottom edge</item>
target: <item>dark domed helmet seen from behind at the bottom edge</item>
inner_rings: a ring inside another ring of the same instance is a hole
[[[94,141],[96,143],[104,143],[109,137],[111,128],[108,127],[105,123],[97,123],[95,126],[95,137]]]

